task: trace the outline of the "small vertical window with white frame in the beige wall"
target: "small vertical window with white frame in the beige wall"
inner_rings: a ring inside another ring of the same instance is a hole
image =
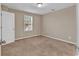
[[[33,17],[24,15],[24,31],[32,31]]]

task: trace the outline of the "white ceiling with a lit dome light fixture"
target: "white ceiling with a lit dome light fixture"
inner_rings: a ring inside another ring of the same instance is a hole
[[[54,12],[51,9],[57,11],[63,8],[73,6],[74,4],[73,3],[44,3],[44,6],[40,8],[38,8],[35,3],[5,3],[3,5],[6,5],[9,8],[13,8],[13,9],[18,9],[22,11],[43,15],[49,12]]]

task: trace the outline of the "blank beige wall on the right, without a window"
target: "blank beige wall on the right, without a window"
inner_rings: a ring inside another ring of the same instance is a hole
[[[41,34],[76,43],[75,6],[44,15]]]

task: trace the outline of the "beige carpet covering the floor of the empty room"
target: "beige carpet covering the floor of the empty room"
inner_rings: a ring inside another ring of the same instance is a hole
[[[44,36],[18,40],[2,46],[2,56],[73,56],[75,46]]]

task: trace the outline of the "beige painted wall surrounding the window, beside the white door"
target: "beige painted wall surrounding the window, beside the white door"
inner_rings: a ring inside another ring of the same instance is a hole
[[[8,8],[5,6],[2,6],[2,10],[15,13],[15,36],[16,36],[16,39],[40,35],[40,18],[41,18],[40,15],[11,9],[11,8]],[[24,32],[24,21],[23,21],[24,15],[33,16],[33,31]]]

